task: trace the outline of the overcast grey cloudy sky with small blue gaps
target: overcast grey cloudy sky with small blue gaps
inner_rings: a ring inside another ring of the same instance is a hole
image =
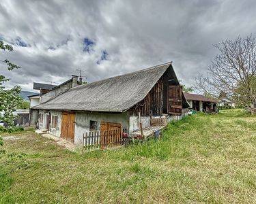
[[[33,90],[59,84],[82,69],[88,82],[173,61],[193,85],[206,73],[221,40],[256,33],[256,1],[12,1],[0,2],[0,52],[21,68],[0,73]]]

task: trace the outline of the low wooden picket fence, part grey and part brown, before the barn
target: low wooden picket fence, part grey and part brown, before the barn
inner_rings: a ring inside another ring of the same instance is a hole
[[[87,150],[122,146],[121,129],[109,131],[89,131],[83,134],[83,153]]]

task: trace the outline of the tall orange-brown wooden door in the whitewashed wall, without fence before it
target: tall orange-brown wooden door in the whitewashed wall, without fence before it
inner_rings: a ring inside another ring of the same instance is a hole
[[[75,114],[63,112],[61,114],[61,138],[74,142]]]

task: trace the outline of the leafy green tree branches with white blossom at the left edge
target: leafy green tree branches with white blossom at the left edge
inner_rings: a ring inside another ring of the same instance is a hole
[[[3,41],[0,40],[0,50],[13,52],[12,46],[8,44],[4,44]],[[7,69],[12,71],[13,69],[18,69],[17,65],[10,63],[7,59],[0,60],[2,63],[7,65]],[[5,89],[3,85],[5,82],[8,82],[10,79],[5,78],[4,75],[0,74],[0,120],[3,120],[8,124],[8,126],[13,126],[14,118],[16,116],[13,115],[15,108],[20,102],[23,100],[18,94],[21,91],[20,86],[14,86],[14,88]]]

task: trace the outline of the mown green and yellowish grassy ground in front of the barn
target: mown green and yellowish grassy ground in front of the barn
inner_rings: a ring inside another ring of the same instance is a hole
[[[199,114],[169,124],[161,141],[85,155],[25,133],[5,141],[0,203],[253,203],[255,122]]]

